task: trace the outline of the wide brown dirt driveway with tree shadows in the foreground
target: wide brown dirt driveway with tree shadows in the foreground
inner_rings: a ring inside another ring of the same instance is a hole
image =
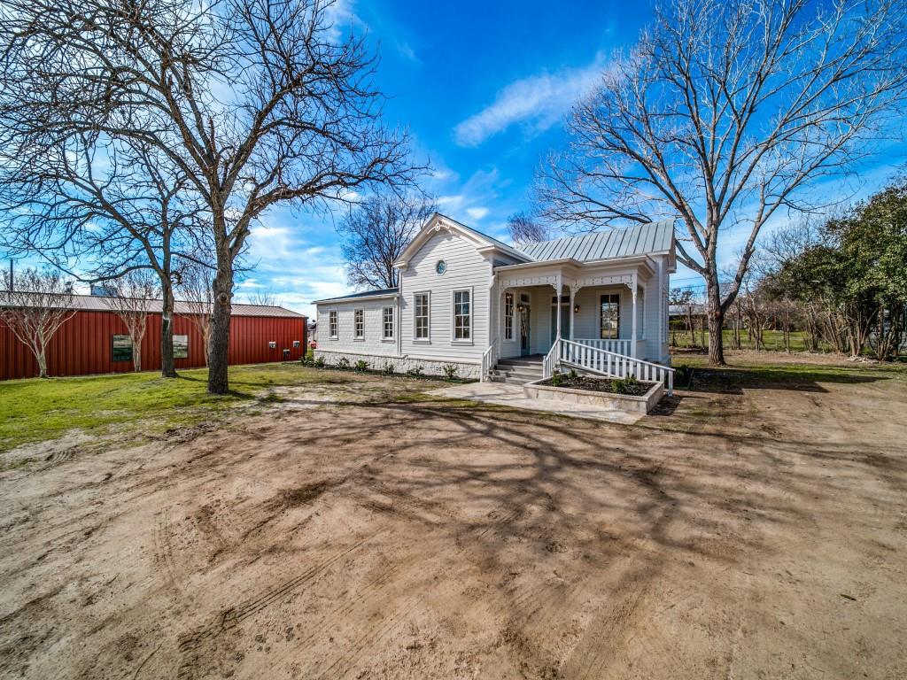
[[[738,392],[633,426],[291,396],[6,471],[0,675],[907,676],[907,385]]]

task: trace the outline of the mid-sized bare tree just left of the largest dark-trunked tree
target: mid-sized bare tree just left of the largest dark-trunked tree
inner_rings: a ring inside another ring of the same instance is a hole
[[[78,276],[93,282],[153,271],[161,289],[161,375],[176,377],[174,271],[211,249],[185,174],[145,141],[104,134],[54,137],[20,153],[27,156],[0,166],[0,241],[14,252],[40,253],[73,277],[75,261]]]

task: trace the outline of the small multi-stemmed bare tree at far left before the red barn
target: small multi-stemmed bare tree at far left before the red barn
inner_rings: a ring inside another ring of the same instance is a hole
[[[38,376],[47,377],[47,346],[60,326],[75,315],[73,284],[59,271],[25,269],[4,274],[0,293],[0,320],[28,347],[38,363]]]

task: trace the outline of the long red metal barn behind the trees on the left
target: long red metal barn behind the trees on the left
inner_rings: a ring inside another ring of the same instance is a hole
[[[141,344],[143,371],[161,369],[161,303],[150,301],[148,325]],[[75,314],[51,340],[47,372],[89,375],[132,372],[132,355],[124,347],[126,325],[102,297],[74,296]],[[152,311],[152,310],[158,311]],[[306,351],[307,318],[278,306],[233,305],[229,329],[230,364],[264,364],[299,359]],[[205,365],[201,336],[188,307],[176,303],[173,316],[177,370]],[[121,337],[117,337],[121,336]],[[128,345],[128,343],[125,343]],[[29,378],[38,364],[28,347],[0,321],[0,380]]]

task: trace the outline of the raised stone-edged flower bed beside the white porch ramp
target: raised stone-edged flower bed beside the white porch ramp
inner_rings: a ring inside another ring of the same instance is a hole
[[[649,413],[664,396],[661,383],[619,381],[589,375],[559,374],[527,383],[523,393],[531,399],[551,399],[568,403],[586,403],[627,413]]]

